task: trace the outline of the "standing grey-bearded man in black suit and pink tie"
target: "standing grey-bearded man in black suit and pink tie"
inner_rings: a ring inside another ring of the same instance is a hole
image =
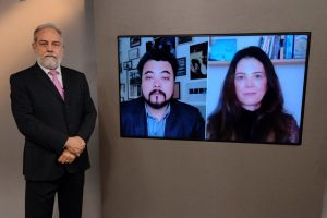
[[[97,112],[85,75],[60,65],[60,29],[38,26],[33,50],[37,62],[10,77],[13,117],[25,136],[25,217],[51,218],[57,193],[60,217],[81,218]]]

